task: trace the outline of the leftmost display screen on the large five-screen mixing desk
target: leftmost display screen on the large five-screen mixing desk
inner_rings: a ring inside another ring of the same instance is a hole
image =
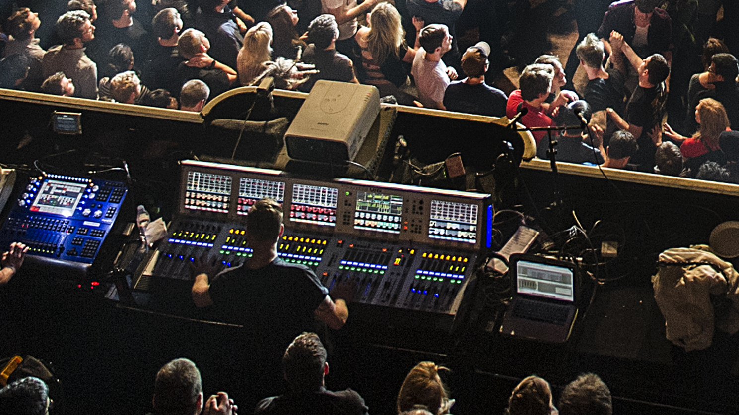
[[[185,209],[228,213],[231,205],[231,176],[189,171]]]

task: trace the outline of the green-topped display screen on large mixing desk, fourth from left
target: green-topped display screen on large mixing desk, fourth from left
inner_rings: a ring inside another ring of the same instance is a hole
[[[357,192],[354,229],[401,233],[402,213],[402,196]]]

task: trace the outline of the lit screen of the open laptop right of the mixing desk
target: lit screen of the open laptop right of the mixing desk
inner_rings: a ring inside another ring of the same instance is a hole
[[[531,261],[516,263],[516,285],[519,294],[573,302],[574,280],[573,270],[568,267]]]

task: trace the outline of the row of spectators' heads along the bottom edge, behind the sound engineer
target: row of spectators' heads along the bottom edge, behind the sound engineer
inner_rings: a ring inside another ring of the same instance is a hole
[[[330,391],[327,351],[316,333],[304,332],[282,356],[284,394],[261,399],[242,413],[274,415],[367,415],[364,399],[351,388]],[[443,366],[420,362],[409,371],[398,391],[398,415],[451,414],[455,400],[439,376]],[[24,377],[0,389],[0,414],[49,414],[49,387],[37,377]],[[157,372],[149,415],[236,415],[239,406],[227,392],[205,399],[202,378],[195,363],[171,360]],[[611,415],[613,402],[607,385],[596,374],[582,374],[562,390],[557,404],[549,383],[537,376],[522,380],[511,392],[506,415]],[[143,411],[142,411],[143,413]]]

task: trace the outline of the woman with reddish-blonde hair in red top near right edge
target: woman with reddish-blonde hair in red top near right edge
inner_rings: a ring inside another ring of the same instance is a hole
[[[713,98],[704,98],[695,107],[695,122],[698,123],[698,131],[690,138],[676,133],[667,123],[664,124],[664,134],[681,143],[680,152],[686,159],[684,166],[693,176],[706,161],[718,164],[726,162],[726,156],[718,145],[718,136],[729,128],[729,117],[720,102]]]

